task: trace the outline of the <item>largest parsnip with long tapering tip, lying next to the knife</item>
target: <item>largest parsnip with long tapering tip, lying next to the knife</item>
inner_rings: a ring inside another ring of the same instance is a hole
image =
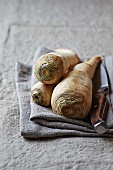
[[[83,119],[92,104],[92,78],[101,57],[77,64],[54,88],[51,98],[53,112],[68,118]]]

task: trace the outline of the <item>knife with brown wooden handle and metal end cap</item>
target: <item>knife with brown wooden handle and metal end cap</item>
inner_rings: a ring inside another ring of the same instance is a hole
[[[106,119],[106,108],[108,101],[106,95],[109,93],[109,83],[107,72],[103,63],[98,67],[98,74],[95,76],[96,91],[92,98],[92,107],[90,111],[90,120],[97,134],[104,134],[108,131]],[[99,83],[97,83],[99,81]]]

